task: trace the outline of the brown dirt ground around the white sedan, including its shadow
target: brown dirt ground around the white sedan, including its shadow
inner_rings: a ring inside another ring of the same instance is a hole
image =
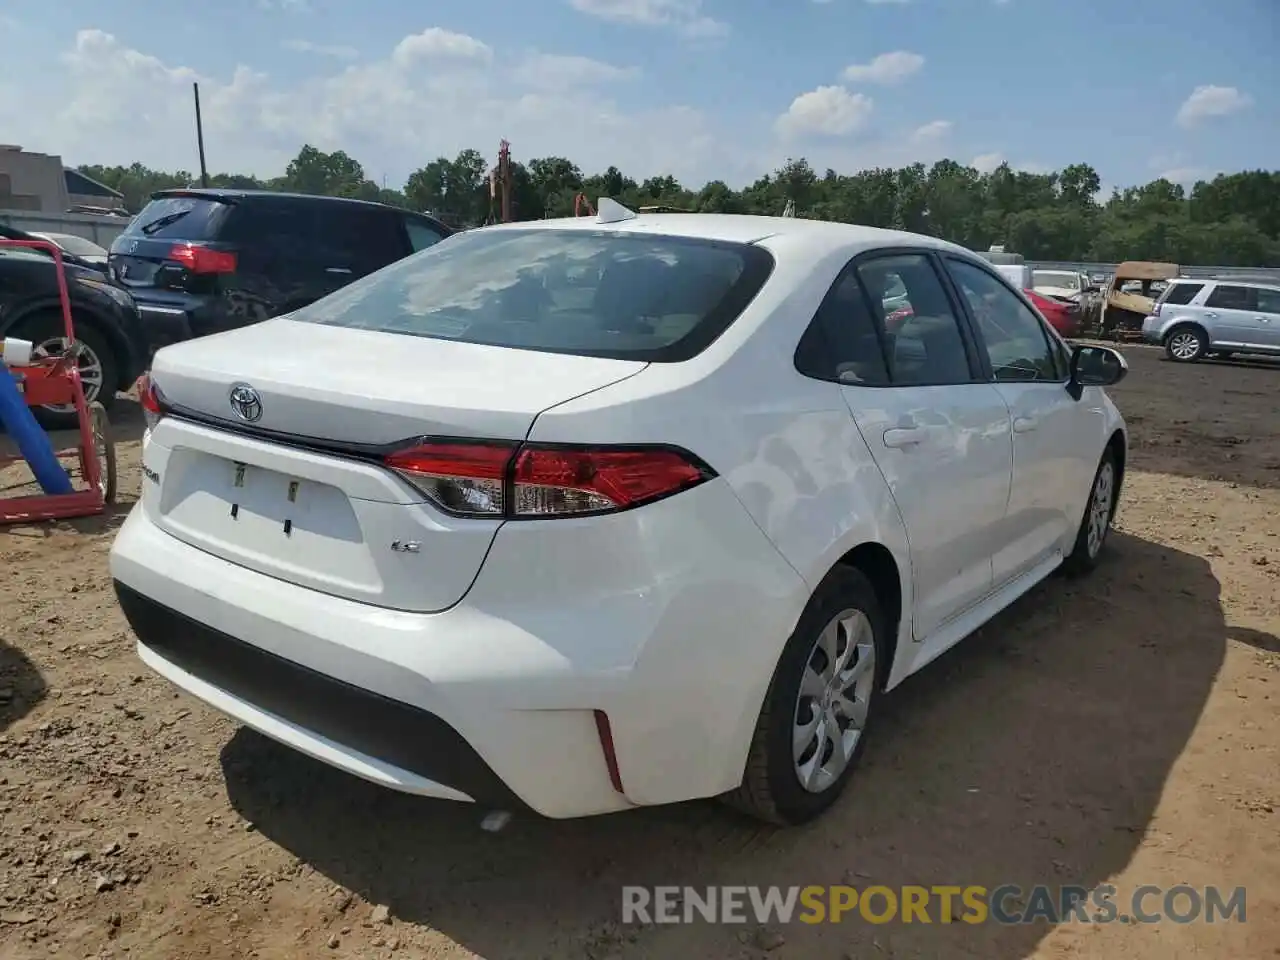
[[[1280,955],[1280,367],[1125,352],[1105,566],[890,695],[804,829],[695,803],[484,833],[151,676],[106,573],[123,511],[0,531],[0,959]],[[1247,922],[618,923],[622,884],[1107,882],[1243,886]]]

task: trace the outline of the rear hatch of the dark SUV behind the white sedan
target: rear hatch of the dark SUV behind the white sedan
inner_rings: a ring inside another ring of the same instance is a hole
[[[218,237],[234,209],[220,195],[157,193],[108,251],[111,276],[134,296],[154,291],[212,292],[218,275],[236,270],[236,251]]]

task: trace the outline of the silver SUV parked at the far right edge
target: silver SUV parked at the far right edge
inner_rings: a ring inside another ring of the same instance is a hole
[[[1172,280],[1143,320],[1142,337],[1180,364],[1211,353],[1280,355],[1280,280]]]

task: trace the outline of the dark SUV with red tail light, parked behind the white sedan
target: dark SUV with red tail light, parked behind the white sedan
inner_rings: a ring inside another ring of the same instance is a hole
[[[166,189],[111,243],[108,265],[154,352],[297,310],[451,233],[361,200]]]

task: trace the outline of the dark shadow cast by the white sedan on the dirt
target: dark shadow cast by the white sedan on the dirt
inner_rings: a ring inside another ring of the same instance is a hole
[[[486,835],[484,810],[383,791],[243,730],[223,765],[262,835],[490,960],[749,956],[742,928],[620,925],[621,887],[1105,882],[1147,829],[1226,632],[1204,561],[1117,532],[1093,577],[1051,579],[893,691],[849,792],[791,831],[692,803]],[[846,918],[785,938],[788,956],[1012,960],[1048,929]]]

